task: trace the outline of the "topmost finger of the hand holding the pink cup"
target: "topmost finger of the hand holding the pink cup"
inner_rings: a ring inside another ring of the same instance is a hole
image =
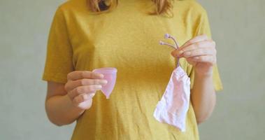
[[[101,79],[103,74],[92,71],[73,71],[67,75],[67,80],[78,80],[83,78]]]

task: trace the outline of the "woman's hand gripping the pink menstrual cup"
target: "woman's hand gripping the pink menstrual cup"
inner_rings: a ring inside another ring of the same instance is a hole
[[[92,98],[96,94],[96,90],[101,90],[102,85],[106,85],[107,82],[101,73],[73,71],[67,75],[64,89],[73,106],[85,110],[92,106]]]

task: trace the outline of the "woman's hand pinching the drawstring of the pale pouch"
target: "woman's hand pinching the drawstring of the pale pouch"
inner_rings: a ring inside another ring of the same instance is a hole
[[[196,73],[209,76],[213,73],[216,63],[215,41],[206,35],[196,36],[187,41],[178,50],[173,50],[173,57],[185,57],[189,64],[194,66]]]

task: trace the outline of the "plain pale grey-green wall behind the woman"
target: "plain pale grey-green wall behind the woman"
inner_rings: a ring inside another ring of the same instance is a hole
[[[0,139],[70,139],[44,111],[41,81],[52,16],[63,0],[0,0]],[[200,0],[217,42],[224,90],[202,140],[265,137],[265,1]]]

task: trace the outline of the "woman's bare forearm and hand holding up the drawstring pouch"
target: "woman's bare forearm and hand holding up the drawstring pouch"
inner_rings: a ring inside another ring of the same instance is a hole
[[[196,36],[171,54],[174,57],[185,57],[193,66],[192,106],[197,123],[202,123],[213,112],[216,101],[213,85],[213,66],[216,63],[215,42],[206,35]]]

